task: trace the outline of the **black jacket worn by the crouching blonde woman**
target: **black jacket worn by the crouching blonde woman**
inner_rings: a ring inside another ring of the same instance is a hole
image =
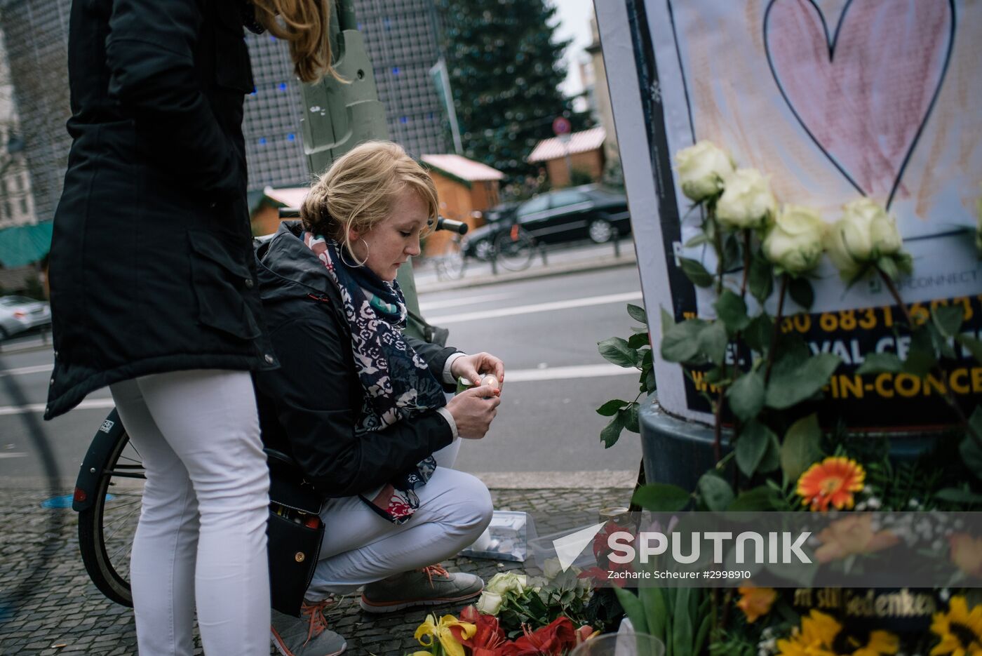
[[[435,410],[355,437],[363,393],[341,295],[317,256],[287,221],[258,247],[259,289],[280,368],[256,375],[263,442],[290,453],[325,497],[378,488],[409,471],[453,434]],[[444,349],[408,338],[441,380]],[[452,388],[450,388],[452,389]]]

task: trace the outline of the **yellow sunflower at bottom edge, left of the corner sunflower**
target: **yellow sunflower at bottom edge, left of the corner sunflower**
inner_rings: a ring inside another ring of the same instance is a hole
[[[791,638],[778,640],[781,656],[890,656],[898,650],[900,639],[889,631],[869,631],[863,637],[815,610],[801,618],[801,628],[794,629]]]

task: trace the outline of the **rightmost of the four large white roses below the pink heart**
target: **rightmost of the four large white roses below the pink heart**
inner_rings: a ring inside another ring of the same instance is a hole
[[[898,254],[902,246],[897,219],[869,198],[846,203],[825,244],[829,259],[845,279],[881,257]]]

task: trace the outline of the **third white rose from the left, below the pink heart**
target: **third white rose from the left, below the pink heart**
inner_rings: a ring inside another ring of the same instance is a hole
[[[811,271],[822,258],[825,222],[810,207],[785,205],[764,238],[764,255],[792,275]]]

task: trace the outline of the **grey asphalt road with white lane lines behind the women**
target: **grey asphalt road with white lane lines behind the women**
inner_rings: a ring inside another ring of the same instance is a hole
[[[493,353],[506,365],[498,418],[483,440],[464,443],[458,468],[529,486],[557,475],[568,485],[571,472],[608,470],[622,479],[636,472],[637,436],[625,433],[605,450],[599,433],[606,419],[594,411],[637,391],[636,373],[626,375],[596,349],[600,340],[629,334],[627,302],[640,303],[633,266],[422,295],[423,314],[451,330],[451,345]],[[51,362],[45,347],[0,352],[0,484],[54,473],[39,457],[38,431],[56,455],[62,484],[70,484],[112,408],[108,390],[99,390],[79,409],[41,421]]]

